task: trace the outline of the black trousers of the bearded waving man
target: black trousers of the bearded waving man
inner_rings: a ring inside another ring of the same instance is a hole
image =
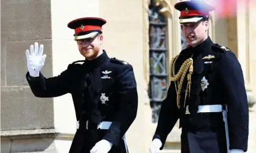
[[[77,130],[70,153],[89,153],[94,145],[102,140],[107,130]],[[108,153],[126,153],[126,144],[120,138],[118,146],[112,146]]]

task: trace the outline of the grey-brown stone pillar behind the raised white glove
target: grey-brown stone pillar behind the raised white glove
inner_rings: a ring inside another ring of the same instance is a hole
[[[1,1],[1,152],[45,150],[53,142],[49,137],[40,140],[55,133],[53,99],[36,98],[25,77],[25,51],[34,41],[45,44],[51,61],[50,0]],[[42,73],[51,76],[52,71],[47,62]],[[42,145],[35,148],[37,141]]]

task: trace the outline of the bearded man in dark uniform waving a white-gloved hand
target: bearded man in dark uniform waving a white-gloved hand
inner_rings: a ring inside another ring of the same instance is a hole
[[[137,115],[138,94],[132,65],[110,59],[102,49],[101,18],[79,18],[67,26],[75,30],[78,49],[85,57],[70,64],[59,76],[40,73],[46,55],[43,45],[26,51],[26,79],[32,93],[40,98],[72,94],[79,125],[71,153],[128,152],[125,133]],[[69,123],[67,123],[69,124]]]

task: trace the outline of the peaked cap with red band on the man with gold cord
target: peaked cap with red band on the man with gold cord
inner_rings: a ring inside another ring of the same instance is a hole
[[[183,1],[175,4],[175,9],[181,12],[179,23],[198,23],[209,18],[209,12],[215,8],[200,0]]]

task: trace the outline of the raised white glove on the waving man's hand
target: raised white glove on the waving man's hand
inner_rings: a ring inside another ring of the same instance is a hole
[[[38,77],[41,68],[45,64],[45,58],[47,57],[47,55],[43,55],[43,44],[40,44],[40,49],[38,49],[37,42],[35,43],[35,49],[34,46],[31,44],[30,54],[27,49],[26,57],[29,75],[32,77]]]

